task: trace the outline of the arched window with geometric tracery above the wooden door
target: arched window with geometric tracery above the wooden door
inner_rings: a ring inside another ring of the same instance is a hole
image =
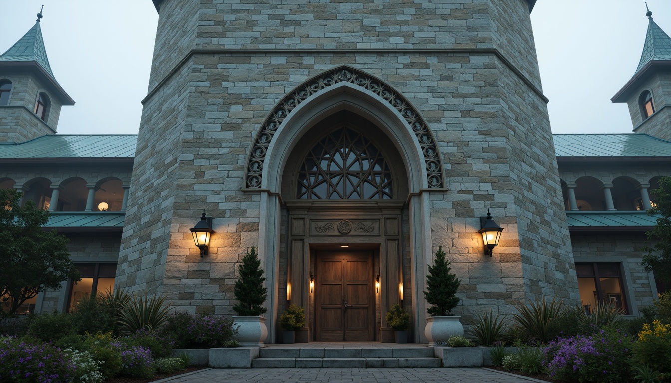
[[[392,172],[362,133],[341,127],[321,138],[298,172],[298,199],[393,199]]]

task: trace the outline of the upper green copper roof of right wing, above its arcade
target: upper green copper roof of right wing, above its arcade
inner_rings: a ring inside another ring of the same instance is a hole
[[[639,133],[553,134],[558,157],[666,157],[671,142]]]

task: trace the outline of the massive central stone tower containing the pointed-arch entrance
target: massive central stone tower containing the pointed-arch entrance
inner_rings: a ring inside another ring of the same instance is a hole
[[[388,341],[384,313],[402,303],[425,341],[439,246],[466,319],[577,301],[533,1],[154,3],[119,286],[231,315],[256,246],[271,342],[287,303],[307,313],[299,339],[334,340],[345,302],[357,339]],[[203,209],[201,257],[189,228]],[[488,209],[505,229],[491,257]]]

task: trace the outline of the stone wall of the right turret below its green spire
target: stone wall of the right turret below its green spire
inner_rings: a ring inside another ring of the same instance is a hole
[[[652,93],[655,113],[643,120],[639,96],[644,90]],[[635,133],[650,134],[662,140],[671,140],[671,72],[657,72],[650,76],[627,100],[629,116]]]

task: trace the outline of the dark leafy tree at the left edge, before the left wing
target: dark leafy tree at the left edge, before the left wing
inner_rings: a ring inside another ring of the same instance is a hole
[[[0,189],[0,317],[13,315],[39,292],[57,290],[64,280],[79,281],[68,252],[68,239],[44,231],[50,213],[27,201],[23,193]]]

